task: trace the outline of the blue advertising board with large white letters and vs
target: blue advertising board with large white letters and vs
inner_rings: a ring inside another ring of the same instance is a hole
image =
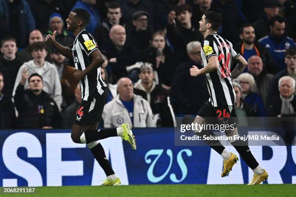
[[[174,128],[133,133],[136,151],[119,137],[101,141],[122,184],[243,184],[252,179],[241,158],[222,178],[222,157],[208,146],[175,146]],[[237,154],[232,146],[226,148]],[[269,173],[265,183],[296,183],[296,146],[250,148]],[[70,130],[2,130],[0,153],[0,186],[99,185],[105,179],[86,144],[71,140]]]

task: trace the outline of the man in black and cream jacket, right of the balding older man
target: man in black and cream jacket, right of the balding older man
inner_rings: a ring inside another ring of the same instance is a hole
[[[134,94],[141,95],[152,109],[157,127],[174,127],[175,114],[170,104],[168,92],[155,83],[152,64],[143,63],[139,81],[134,84]]]

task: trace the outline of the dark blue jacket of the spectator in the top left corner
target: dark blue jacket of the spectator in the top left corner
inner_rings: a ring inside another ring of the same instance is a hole
[[[20,48],[24,48],[28,45],[29,34],[36,28],[35,19],[31,13],[30,6],[26,0],[19,0],[17,4],[18,8],[18,38],[17,45]],[[8,0],[0,0],[0,21],[9,28],[10,24],[15,21],[10,21],[10,14]]]

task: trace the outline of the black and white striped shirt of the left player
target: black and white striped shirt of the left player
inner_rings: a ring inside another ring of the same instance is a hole
[[[91,53],[95,50],[98,50],[97,42],[88,31],[81,30],[76,36],[72,48],[75,68],[78,70],[88,68],[92,61]],[[101,67],[91,70],[79,81],[79,84],[82,100],[92,100],[96,92],[102,95],[107,87],[101,77]]]

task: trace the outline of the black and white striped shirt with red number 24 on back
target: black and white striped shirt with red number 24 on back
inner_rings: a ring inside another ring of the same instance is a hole
[[[233,49],[231,42],[216,33],[209,34],[202,42],[201,47],[204,66],[207,66],[208,58],[211,56],[217,56],[219,61],[219,68],[206,74],[209,101],[214,107],[234,106],[236,94],[231,82],[230,64],[231,59],[237,58],[240,54]]]

